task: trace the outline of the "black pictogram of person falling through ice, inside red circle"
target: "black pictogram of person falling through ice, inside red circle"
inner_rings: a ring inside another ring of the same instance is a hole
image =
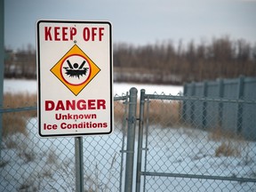
[[[66,69],[65,74],[67,74],[70,77],[76,76],[78,79],[80,78],[80,76],[86,76],[86,73],[89,68],[84,68],[84,64],[86,62],[85,60],[81,63],[80,66],[77,63],[74,63],[72,66],[69,60],[67,60],[67,62],[68,62],[68,67],[63,67]]]

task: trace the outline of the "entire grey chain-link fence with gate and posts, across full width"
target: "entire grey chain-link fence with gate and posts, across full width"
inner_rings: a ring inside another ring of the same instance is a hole
[[[114,132],[83,137],[84,191],[256,191],[255,100],[144,90],[139,100],[134,88],[114,100]],[[223,129],[230,114],[212,111],[237,106],[250,109],[241,130]],[[0,111],[0,191],[76,191],[74,138],[40,139],[36,107]]]

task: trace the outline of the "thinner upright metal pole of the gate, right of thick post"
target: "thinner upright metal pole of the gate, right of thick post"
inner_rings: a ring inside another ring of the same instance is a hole
[[[140,124],[139,124],[139,138],[138,138],[138,156],[137,156],[137,172],[136,172],[136,191],[140,192],[140,172],[141,172],[141,158],[142,158],[142,139],[143,139],[143,125],[144,125],[144,104],[145,104],[145,90],[140,90]]]

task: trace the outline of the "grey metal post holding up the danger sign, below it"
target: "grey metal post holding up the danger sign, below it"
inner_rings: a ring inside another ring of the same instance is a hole
[[[84,192],[83,137],[75,137],[76,192]]]

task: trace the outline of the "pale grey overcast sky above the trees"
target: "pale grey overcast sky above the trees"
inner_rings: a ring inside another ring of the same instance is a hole
[[[36,48],[36,21],[42,19],[109,20],[114,43],[222,36],[256,43],[256,0],[5,0],[5,46]]]

